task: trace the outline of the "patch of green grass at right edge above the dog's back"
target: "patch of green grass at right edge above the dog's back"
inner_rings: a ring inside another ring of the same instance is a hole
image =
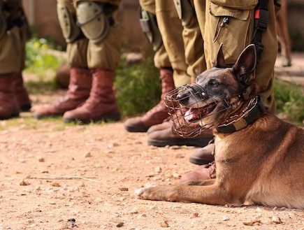
[[[304,89],[294,82],[275,80],[273,94],[277,113],[283,113],[291,122],[301,124],[304,120]]]

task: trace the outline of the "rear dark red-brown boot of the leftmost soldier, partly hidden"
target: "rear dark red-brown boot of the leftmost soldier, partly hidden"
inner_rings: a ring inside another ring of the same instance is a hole
[[[13,89],[20,110],[24,112],[31,110],[31,100],[27,89],[23,85],[22,73],[13,74]]]

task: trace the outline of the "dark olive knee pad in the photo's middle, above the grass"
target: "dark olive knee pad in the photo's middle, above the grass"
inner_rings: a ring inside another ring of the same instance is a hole
[[[163,39],[161,38],[161,32],[159,31],[159,27],[157,25],[156,15],[144,10],[143,8],[140,8],[139,17],[140,27],[143,29],[143,32],[147,37],[147,41],[153,45],[154,51],[159,50],[163,43]]]

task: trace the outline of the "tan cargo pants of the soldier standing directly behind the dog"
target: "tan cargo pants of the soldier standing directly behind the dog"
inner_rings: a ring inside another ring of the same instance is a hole
[[[254,6],[257,0],[194,0],[204,40],[207,68],[212,68],[220,43],[224,43],[226,63],[236,62],[240,52],[251,43],[254,30]],[[264,50],[256,66],[255,82],[260,87],[260,96],[270,113],[275,113],[273,98],[274,64],[277,57],[277,36],[275,33],[275,8],[268,2],[269,21],[263,33]],[[229,16],[229,24],[221,27],[222,20]]]

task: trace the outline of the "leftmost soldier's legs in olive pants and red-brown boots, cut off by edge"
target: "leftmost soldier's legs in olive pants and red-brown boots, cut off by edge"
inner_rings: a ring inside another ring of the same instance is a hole
[[[31,109],[22,78],[28,29],[22,1],[0,0],[0,120]]]

